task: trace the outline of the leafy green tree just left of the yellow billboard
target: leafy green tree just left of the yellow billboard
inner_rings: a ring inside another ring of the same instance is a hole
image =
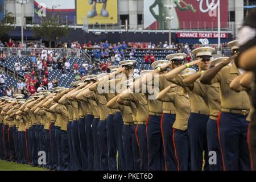
[[[35,24],[31,30],[36,37],[40,37],[43,40],[49,42],[49,47],[52,47],[52,42],[68,35],[68,26],[64,25],[58,15],[48,14],[42,17],[41,24]]]

